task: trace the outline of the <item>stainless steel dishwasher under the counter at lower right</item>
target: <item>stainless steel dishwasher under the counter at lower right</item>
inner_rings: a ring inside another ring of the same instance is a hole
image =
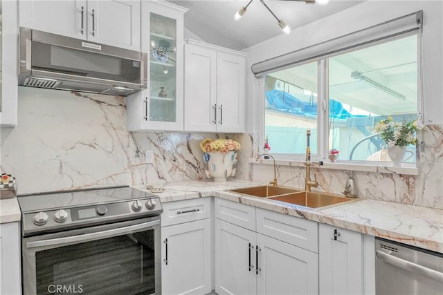
[[[377,294],[443,294],[443,254],[381,238],[375,254]]]

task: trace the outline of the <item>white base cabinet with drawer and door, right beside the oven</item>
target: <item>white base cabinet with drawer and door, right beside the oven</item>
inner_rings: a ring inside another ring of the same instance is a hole
[[[209,210],[209,211],[208,211]],[[162,294],[211,291],[210,198],[163,204]],[[201,219],[203,218],[203,219]]]

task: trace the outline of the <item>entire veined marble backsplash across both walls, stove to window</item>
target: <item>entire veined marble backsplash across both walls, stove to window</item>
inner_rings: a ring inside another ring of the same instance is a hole
[[[267,182],[273,167],[250,164],[253,135],[128,132],[124,97],[19,87],[19,122],[1,129],[0,169],[19,193],[206,180],[199,143],[230,137],[242,144],[235,178]],[[443,209],[443,125],[426,126],[419,175],[355,172],[359,196]],[[154,163],[145,164],[145,151]],[[340,193],[343,171],[314,168],[320,191]],[[278,166],[279,184],[304,187],[305,170]]]

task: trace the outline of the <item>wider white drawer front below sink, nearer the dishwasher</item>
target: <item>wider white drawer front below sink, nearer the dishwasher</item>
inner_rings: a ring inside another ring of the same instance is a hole
[[[318,253],[318,223],[257,209],[257,233]]]

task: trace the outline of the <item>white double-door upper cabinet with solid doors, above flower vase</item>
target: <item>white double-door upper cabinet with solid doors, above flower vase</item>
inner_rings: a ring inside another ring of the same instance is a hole
[[[244,132],[246,54],[188,40],[185,131]]]

